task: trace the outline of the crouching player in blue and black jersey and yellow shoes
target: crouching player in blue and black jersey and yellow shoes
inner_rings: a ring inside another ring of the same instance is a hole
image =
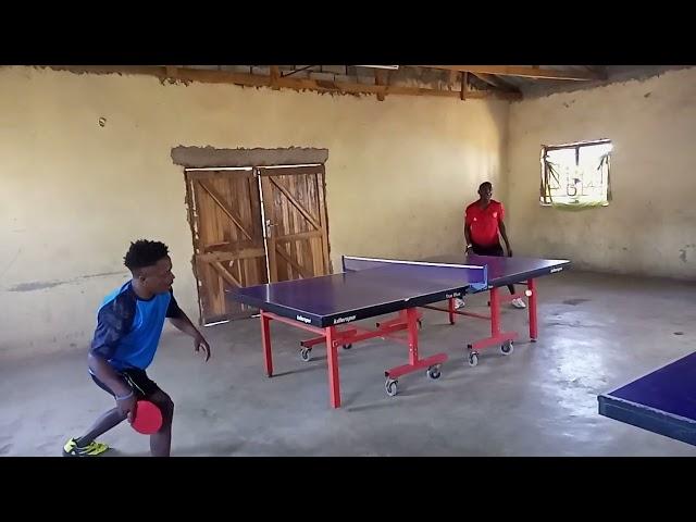
[[[116,405],[102,414],[82,437],[71,438],[63,455],[92,457],[109,447],[95,439],[128,419],[133,421],[136,401],[148,399],[162,411],[161,430],[150,435],[153,457],[169,457],[172,442],[174,402],[152,382],[146,369],[152,362],[164,320],[194,338],[195,351],[210,359],[210,346],[178,308],[172,283],[169,248],[160,241],[132,243],[124,264],[133,278],[112,291],[99,308],[97,330],[87,358],[95,383],[113,396]]]

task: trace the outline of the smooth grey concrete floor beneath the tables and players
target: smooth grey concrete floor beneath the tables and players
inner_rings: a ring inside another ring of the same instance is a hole
[[[696,349],[696,285],[567,272],[539,279],[539,341],[464,362],[487,323],[425,311],[421,352],[447,351],[438,381],[424,372],[384,390],[384,370],[407,348],[388,340],[340,352],[344,407],[328,408],[325,350],[299,359],[303,333],[272,328],[277,375],[263,374],[259,321],[206,328],[208,364],[170,330],[151,376],[174,398],[174,456],[696,456],[686,444],[599,417],[597,394]],[[485,311],[486,298],[468,307]],[[525,339],[526,313],[504,312]],[[167,327],[169,328],[169,327]],[[109,397],[84,353],[7,361],[0,368],[0,455],[57,456]],[[148,455],[127,424],[101,437],[113,456]],[[109,455],[108,453],[108,455]]]

